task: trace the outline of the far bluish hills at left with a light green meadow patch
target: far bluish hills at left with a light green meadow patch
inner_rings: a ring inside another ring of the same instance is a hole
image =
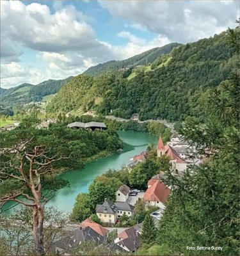
[[[63,80],[48,80],[36,85],[24,83],[8,90],[3,89],[3,91],[0,91],[1,102],[11,106],[13,104],[41,101],[44,96],[57,93],[71,78],[72,77]]]

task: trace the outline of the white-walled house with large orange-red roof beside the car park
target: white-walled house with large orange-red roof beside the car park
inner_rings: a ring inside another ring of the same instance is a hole
[[[168,188],[159,179],[150,179],[148,181],[148,189],[145,192],[143,200],[147,204],[158,206],[161,209],[165,208],[166,200],[171,193],[171,189]]]

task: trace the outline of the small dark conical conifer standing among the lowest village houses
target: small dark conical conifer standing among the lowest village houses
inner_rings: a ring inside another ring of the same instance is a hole
[[[143,243],[149,244],[156,239],[157,228],[155,227],[154,220],[149,213],[146,214],[143,221],[143,232],[141,234],[141,239]]]

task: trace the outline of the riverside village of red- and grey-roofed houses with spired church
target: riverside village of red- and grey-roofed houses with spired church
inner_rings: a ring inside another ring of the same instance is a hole
[[[92,124],[97,125],[97,124]],[[70,124],[68,127],[83,127],[82,124]],[[157,157],[167,156],[170,159],[172,175],[180,177],[187,169],[188,164],[200,164],[201,160],[193,158],[195,148],[190,146],[188,141],[182,140],[179,134],[173,134],[171,140],[165,145],[162,138],[157,144]],[[132,157],[126,168],[131,173],[133,166],[144,162],[148,152],[143,151]],[[138,202],[144,202],[145,207],[156,207],[157,211],[150,214],[154,225],[158,227],[163,216],[168,196],[171,194],[171,187],[164,184],[164,172],[154,175],[147,183],[147,190],[129,188],[122,185],[116,191],[116,201],[111,202],[105,198],[104,203],[96,205],[95,213],[100,220],[97,223],[91,218],[82,221],[75,230],[72,230],[67,237],[56,241],[52,246],[52,252],[63,255],[71,255],[72,250],[84,241],[94,241],[97,246],[104,245],[115,252],[132,253],[136,252],[141,245],[141,233],[143,222],[132,227],[121,227],[123,218],[133,218],[136,211],[134,208]],[[116,230],[117,237],[109,243],[108,236]]]

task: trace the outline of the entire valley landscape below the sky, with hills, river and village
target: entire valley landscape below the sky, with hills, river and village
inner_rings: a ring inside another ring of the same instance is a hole
[[[1,90],[1,217],[30,229],[2,221],[0,254],[31,230],[28,255],[237,255],[238,39]]]

